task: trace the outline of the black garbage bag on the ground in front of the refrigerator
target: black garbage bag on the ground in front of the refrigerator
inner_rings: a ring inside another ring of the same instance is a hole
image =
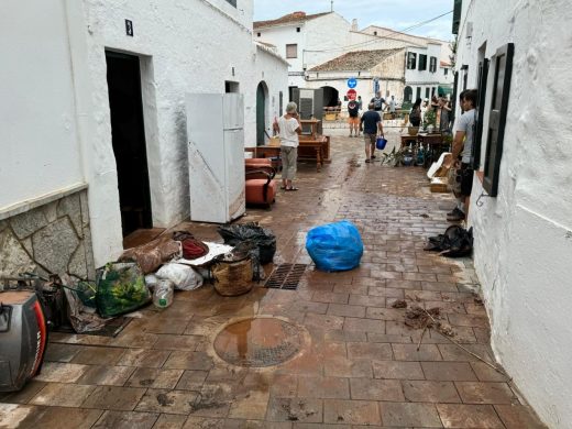
[[[258,261],[261,264],[268,264],[276,253],[276,237],[266,228],[260,227],[256,222],[224,224],[218,228],[224,244],[238,245],[242,242],[253,242],[258,248]]]

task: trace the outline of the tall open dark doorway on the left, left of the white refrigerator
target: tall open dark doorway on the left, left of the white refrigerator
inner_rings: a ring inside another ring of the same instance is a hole
[[[106,52],[123,237],[152,228],[139,57]]]

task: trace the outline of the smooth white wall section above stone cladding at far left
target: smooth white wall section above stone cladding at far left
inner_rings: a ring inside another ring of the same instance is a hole
[[[85,182],[66,10],[55,0],[34,9],[1,6],[0,210]]]

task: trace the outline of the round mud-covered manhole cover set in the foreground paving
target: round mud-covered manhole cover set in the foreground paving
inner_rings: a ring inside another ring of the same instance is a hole
[[[215,351],[240,366],[272,366],[286,362],[301,349],[298,329],[279,319],[246,319],[226,327],[215,339]]]

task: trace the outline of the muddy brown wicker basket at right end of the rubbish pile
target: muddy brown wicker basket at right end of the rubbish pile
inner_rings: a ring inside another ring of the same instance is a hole
[[[252,261],[219,261],[212,267],[215,290],[222,296],[246,294],[252,289]]]

